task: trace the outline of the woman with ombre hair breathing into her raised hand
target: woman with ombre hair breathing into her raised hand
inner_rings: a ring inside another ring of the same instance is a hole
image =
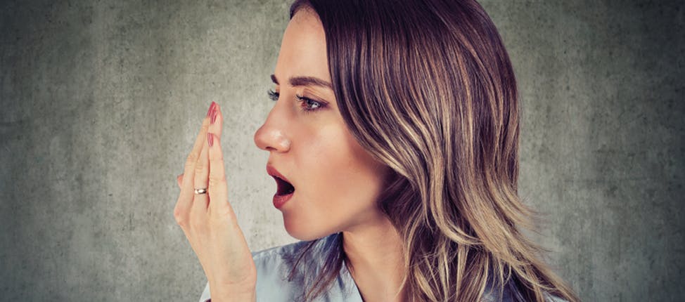
[[[302,242],[248,250],[212,103],[174,211],[201,301],[577,301],[519,229],[516,82],[479,4],[310,0],[290,17],[255,143]]]

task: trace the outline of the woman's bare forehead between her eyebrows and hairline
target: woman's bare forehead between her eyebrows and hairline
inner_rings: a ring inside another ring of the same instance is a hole
[[[276,77],[318,77],[330,81],[326,58],[326,33],[318,15],[303,8],[297,11],[283,33]]]

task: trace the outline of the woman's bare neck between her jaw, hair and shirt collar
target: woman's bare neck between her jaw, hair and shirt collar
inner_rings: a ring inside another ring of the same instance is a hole
[[[402,239],[388,218],[342,232],[342,247],[364,301],[404,301]]]

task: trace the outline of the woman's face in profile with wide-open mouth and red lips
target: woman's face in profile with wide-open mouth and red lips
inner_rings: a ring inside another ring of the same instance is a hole
[[[376,199],[387,168],[342,120],[315,13],[302,9],[290,20],[272,79],[277,100],[255,143],[269,151],[269,173],[275,169],[292,185],[276,180],[274,197],[288,233],[316,239],[380,219]]]

